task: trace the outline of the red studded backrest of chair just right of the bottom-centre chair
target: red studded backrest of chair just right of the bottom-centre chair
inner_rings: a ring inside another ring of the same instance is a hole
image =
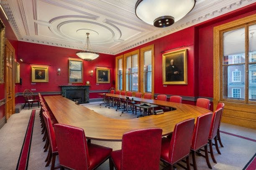
[[[189,155],[195,119],[187,119],[175,125],[169,149],[169,163],[174,164]]]

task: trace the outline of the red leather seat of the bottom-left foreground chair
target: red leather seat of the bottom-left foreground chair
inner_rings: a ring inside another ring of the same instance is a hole
[[[112,152],[112,148],[107,148],[92,143],[87,143],[87,146],[90,159],[90,167],[88,168],[89,170],[94,169],[97,165],[102,163],[103,160],[106,160]]]

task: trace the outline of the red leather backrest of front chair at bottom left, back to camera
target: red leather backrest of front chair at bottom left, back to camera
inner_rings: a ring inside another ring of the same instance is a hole
[[[84,130],[70,125],[55,124],[59,163],[75,170],[87,170],[90,158]]]

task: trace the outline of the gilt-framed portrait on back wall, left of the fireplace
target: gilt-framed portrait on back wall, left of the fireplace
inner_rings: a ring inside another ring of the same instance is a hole
[[[48,82],[48,67],[31,67],[32,82]]]

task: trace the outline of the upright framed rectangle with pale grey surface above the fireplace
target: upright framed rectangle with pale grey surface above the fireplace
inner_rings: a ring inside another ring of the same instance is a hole
[[[83,82],[83,61],[69,60],[69,83]]]

